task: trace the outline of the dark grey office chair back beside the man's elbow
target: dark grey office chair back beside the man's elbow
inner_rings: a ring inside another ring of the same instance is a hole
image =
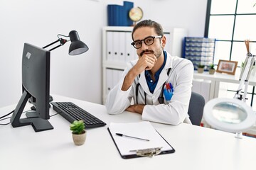
[[[203,107],[205,106],[205,103],[206,101],[201,94],[192,91],[188,106],[188,115],[193,125],[200,125],[203,118]]]

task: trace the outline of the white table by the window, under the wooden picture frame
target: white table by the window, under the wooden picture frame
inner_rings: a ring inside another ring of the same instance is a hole
[[[193,75],[194,79],[204,79],[204,80],[211,81],[210,99],[218,98],[220,82],[240,84],[239,77],[240,77],[240,69],[237,70],[235,75],[218,73],[218,72],[215,72],[215,74],[209,74],[208,72],[198,73],[197,71],[195,71]],[[252,86],[256,86],[256,78],[250,77],[249,84]]]

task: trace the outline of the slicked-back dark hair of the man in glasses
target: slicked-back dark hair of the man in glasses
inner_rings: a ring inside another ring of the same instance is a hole
[[[152,27],[156,31],[157,35],[164,35],[163,28],[161,27],[161,25],[159,23],[156,23],[155,21],[151,21],[151,20],[144,20],[144,21],[140,21],[139,23],[137,23],[136,26],[134,26],[134,28],[132,30],[132,40],[134,40],[133,35],[134,35],[135,30],[137,30],[138,28],[142,28],[142,27]]]

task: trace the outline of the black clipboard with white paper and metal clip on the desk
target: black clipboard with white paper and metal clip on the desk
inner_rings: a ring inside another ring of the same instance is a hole
[[[157,132],[151,123],[110,123],[107,128],[114,145],[123,159],[136,157],[153,157],[158,154],[171,154],[175,152],[164,137]],[[126,136],[119,136],[121,133]],[[142,140],[136,139],[142,138]],[[146,140],[149,141],[146,141]]]

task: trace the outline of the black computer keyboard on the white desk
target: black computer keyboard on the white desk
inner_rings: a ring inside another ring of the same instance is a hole
[[[85,123],[85,128],[97,128],[106,125],[102,120],[72,102],[51,102],[51,104],[53,105],[53,110],[70,123],[73,123],[74,120],[82,120]]]

